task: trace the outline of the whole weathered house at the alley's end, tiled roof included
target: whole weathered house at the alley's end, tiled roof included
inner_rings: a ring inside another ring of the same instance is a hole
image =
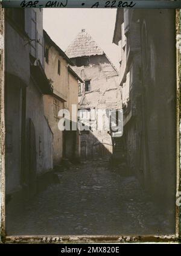
[[[78,107],[84,126],[81,131],[81,158],[110,156],[113,152],[110,136],[109,112],[121,109],[121,91],[117,84],[118,72],[92,37],[81,30],[66,54],[75,66],[83,83],[78,87]],[[103,110],[103,127],[98,127],[98,111]],[[92,114],[93,113],[93,114]],[[92,115],[90,121],[90,115]]]

